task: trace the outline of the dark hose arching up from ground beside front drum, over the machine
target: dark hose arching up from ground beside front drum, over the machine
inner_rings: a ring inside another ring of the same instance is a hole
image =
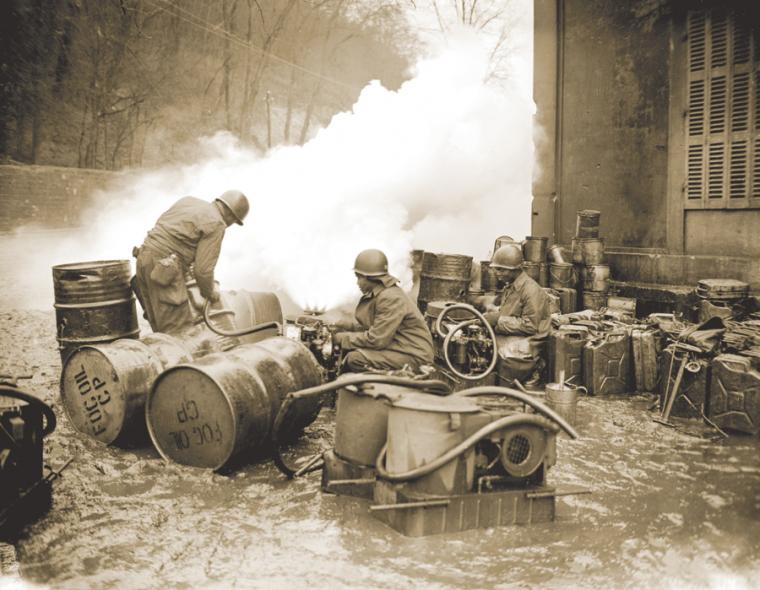
[[[290,409],[290,406],[293,404],[293,402],[306,397],[313,397],[322,395],[329,391],[335,391],[341,387],[362,385],[364,383],[385,383],[387,385],[401,385],[404,387],[409,387],[410,389],[421,389],[434,395],[450,395],[451,393],[449,386],[446,385],[443,381],[437,381],[433,379],[421,381],[417,379],[411,379],[409,377],[397,377],[394,375],[375,375],[366,373],[350,375],[346,378],[336,379],[331,383],[323,383],[322,385],[316,385],[314,387],[308,387],[306,389],[301,389],[300,391],[289,393],[285,396],[285,399],[282,400],[280,410],[277,412],[277,416],[275,417],[274,423],[272,424],[272,460],[274,461],[274,464],[277,466],[277,468],[288,479],[293,478],[295,475],[295,470],[291,469],[285,463],[285,460],[282,457],[282,453],[280,452],[280,445],[278,442],[280,437],[280,430],[282,428],[282,422],[285,420],[285,416],[287,415],[288,410]]]

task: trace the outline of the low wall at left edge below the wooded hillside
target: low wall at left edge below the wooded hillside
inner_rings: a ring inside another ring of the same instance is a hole
[[[123,174],[55,166],[0,166],[0,232],[75,227],[92,195]]]

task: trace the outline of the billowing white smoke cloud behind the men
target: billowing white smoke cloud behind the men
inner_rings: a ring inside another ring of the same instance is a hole
[[[350,112],[303,146],[262,156],[226,133],[206,138],[195,163],[98,195],[85,229],[27,266],[49,277],[55,263],[127,258],[177,198],[230,188],[252,208],[225,237],[223,289],[277,290],[302,307],[332,307],[358,296],[351,268],[364,248],[384,250],[406,286],[413,248],[483,259],[496,236],[529,233],[533,163],[533,104],[517,82],[488,85],[487,66],[476,36],[460,34],[397,91],[367,85]]]

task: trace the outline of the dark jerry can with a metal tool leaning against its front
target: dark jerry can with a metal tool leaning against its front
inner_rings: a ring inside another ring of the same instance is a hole
[[[665,407],[668,395],[673,391],[678,367],[681,364],[681,354],[673,357],[673,347],[666,347],[659,356],[660,380],[657,394],[660,396],[660,407]],[[671,362],[672,360],[672,362]],[[684,368],[681,384],[678,387],[676,399],[673,401],[671,416],[680,418],[700,418],[707,415],[710,402],[710,362],[707,359],[690,359]]]

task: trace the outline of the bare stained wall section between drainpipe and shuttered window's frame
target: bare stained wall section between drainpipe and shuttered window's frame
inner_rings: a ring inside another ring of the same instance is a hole
[[[562,4],[559,240],[578,209],[610,246],[666,246],[669,17],[658,2]]]

